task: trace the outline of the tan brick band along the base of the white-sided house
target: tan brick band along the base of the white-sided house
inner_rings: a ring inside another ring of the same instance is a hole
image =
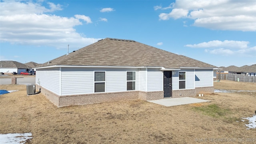
[[[38,86],[38,85],[37,85]],[[40,87],[40,86],[39,86]],[[126,91],[126,92],[107,92],[96,94],[80,94],[59,96],[45,88],[41,88],[42,94],[57,107],[94,104],[100,102],[110,102],[118,100],[159,100],[164,98],[164,91],[143,92],[143,91]],[[172,98],[192,97],[197,94],[214,92],[214,87],[201,87],[189,90],[172,90]]]

